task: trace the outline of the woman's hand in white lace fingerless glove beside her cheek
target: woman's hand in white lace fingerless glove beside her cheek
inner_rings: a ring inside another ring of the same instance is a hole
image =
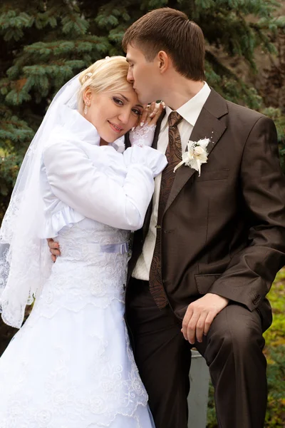
[[[164,103],[151,103],[145,106],[140,123],[130,131],[130,143],[132,146],[152,146],[157,120],[160,117]]]

